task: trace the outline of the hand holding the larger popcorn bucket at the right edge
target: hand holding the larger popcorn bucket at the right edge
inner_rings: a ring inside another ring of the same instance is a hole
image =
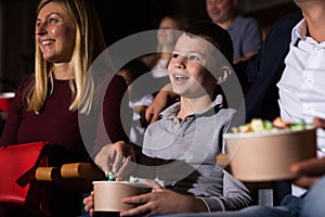
[[[314,125],[325,129],[325,119],[315,117]],[[291,166],[291,171],[300,176],[294,183],[310,188],[325,175],[325,157],[297,162]]]

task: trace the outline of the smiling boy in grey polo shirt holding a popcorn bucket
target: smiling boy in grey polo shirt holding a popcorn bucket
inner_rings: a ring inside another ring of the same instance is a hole
[[[248,189],[216,162],[222,132],[235,112],[224,104],[219,86],[230,76],[232,56],[227,31],[214,23],[192,24],[179,37],[168,72],[181,99],[161,113],[161,120],[148,125],[140,162],[155,168],[151,174],[145,167],[143,178],[156,179],[162,187],[146,182],[154,192],[123,199],[138,206],[120,216],[223,212],[250,204]],[[178,163],[168,165],[170,161]],[[92,215],[93,194],[83,203]]]

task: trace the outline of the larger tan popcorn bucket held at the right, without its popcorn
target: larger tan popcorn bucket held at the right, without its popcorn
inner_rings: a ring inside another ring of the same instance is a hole
[[[243,181],[292,179],[295,162],[316,155],[315,128],[224,135],[233,175]]]

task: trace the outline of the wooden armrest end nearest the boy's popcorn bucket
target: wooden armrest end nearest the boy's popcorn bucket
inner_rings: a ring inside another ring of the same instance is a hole
[[[105,179],[104,171],[90,163],[64,164],[61,167],[61,176],[66,179],[82,178],[90,181]]]

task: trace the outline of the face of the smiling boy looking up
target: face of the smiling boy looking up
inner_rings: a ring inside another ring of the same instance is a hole
[[[168,64],[176,93],[185,98],[212,94],[217,81],[207,68],[213,68],[216,56],[210,51],[211,44],[206,40],[185,34],[180,36]]]

